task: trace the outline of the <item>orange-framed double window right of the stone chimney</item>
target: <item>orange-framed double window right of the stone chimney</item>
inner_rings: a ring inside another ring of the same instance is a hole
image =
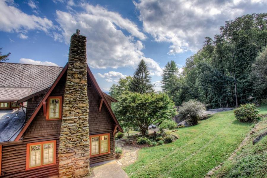
[[[110,153],[109,136],[109,133],[90,136],[90,156]]]

